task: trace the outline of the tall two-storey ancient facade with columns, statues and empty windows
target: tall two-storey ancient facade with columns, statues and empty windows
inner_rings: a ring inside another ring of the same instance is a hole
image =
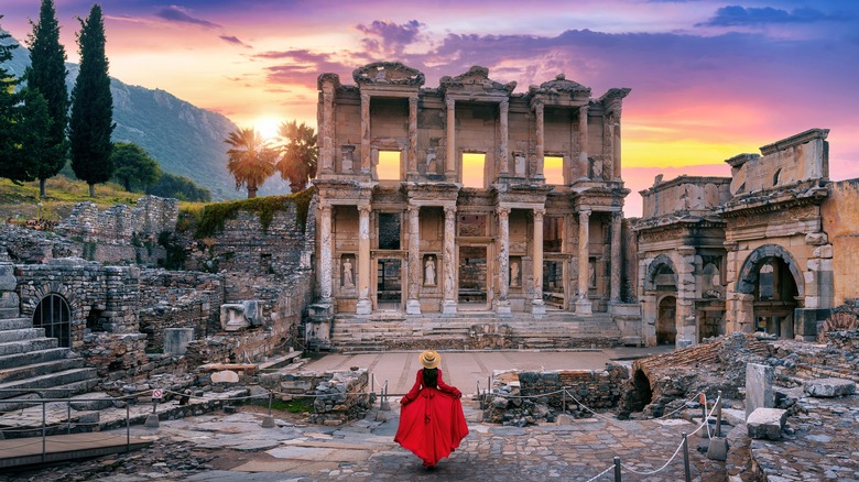
[[[318,79],[318,294],[368,317],[621,304],[621,105],[563,75],[526,92],[483,67],[399,63]]]

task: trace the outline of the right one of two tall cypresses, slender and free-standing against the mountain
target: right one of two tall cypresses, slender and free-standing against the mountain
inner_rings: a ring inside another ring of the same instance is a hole
[[[89,184],[89,196],[96,196],[96,184],[113,175],[110,162],[110,134],[113,132],[113,98],[110,95],[108,59],[105,55],[105,22],[101,7],[94,4],[86,20],[78,19],[80,32],[80,73],[72,90],[69,141],[75,176]]]

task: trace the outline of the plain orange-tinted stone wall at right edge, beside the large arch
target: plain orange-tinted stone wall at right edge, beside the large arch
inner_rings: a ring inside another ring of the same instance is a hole
[[[820,208],[823,230],[831,243],[833,298],[836,306],[859,298],[859,179],[829,185]],[[827,248],[820,247],[820,251]]]

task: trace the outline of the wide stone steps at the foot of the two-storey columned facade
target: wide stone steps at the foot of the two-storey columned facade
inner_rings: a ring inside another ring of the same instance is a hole
[[[335,316],[333,349],[342,352],[420,349],[563,349],[606,348],[621,344],[621,332],[610,315],[575,317],[550,313],[544,317],[491,311],[454,316],[373,314],[367,318]]]

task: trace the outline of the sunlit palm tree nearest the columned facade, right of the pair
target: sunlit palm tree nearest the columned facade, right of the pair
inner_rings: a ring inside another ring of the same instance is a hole
[[[279,146],[283,155],[276,165],[281,178],[290,180],[290,189],[293,193],[304,190],[307,188],[307,180],[316,177],[319,156],[316,134],[312,127],[297,121],[282,123],[279,133],[284,141]]]

